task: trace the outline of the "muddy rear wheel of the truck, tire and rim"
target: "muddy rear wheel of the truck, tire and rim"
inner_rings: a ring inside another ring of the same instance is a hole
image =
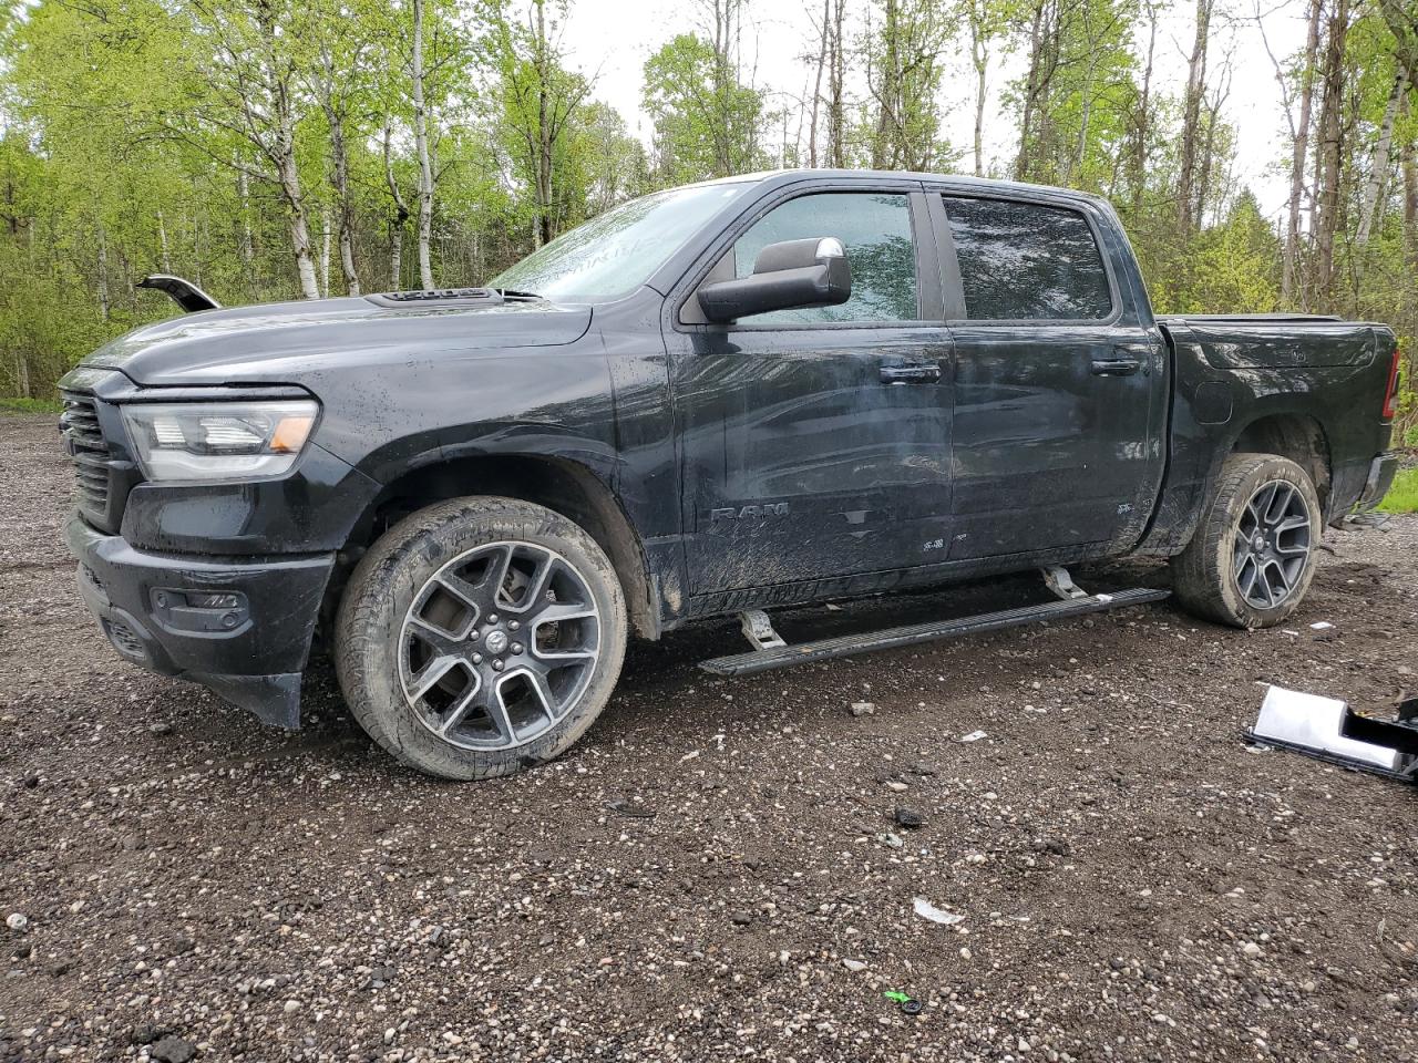
[[[1305,469],[1275,454],[1232,454],[1191,543],[1171,560],[1173,592],[1188,612],[1218,624],[1279,624],[1314,578],[1323,527]]]

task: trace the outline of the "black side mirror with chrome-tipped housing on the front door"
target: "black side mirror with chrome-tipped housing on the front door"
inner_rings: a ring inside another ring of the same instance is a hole
[[[749,276],[700,288],[699,309],[722,325],[770,310],[841,306],[851,298],[852,271],[842,241],[813,237],[769,244]]]

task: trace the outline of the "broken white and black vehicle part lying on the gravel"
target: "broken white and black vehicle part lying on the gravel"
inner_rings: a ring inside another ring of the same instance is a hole
[[[1252,744],[1293,750],[1354,771],[1418,782],[1418,697],[1398,706],[1397,720],[1360,716],[1337,697],[1268,686]]]

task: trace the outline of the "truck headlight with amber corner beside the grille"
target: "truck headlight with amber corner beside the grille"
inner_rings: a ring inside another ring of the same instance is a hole
[[[155,403],[123,407],[138,461],[152,480],[279,476],[315,427],[313,401]]]

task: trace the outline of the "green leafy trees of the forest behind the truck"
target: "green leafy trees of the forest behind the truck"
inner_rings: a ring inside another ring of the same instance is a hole
[[[1299,282],[1283,296],[1283,217],[1262,215],[1232,179],[1225,119],[1251,105],[1228,102],[1231,67],[1266,60],[1232,52],[1219,7],[1201,92],[1188,95],[1176,75],[1190,33],[1168,20],[1190,17],[1195,0],[818,0],[795,27],[773,23],[800,31],[805,88],[770,96],[740,61],[744,38],[769,24],[763,0],[752,0],[756,18],[750,0],[686,0],[686,30],[644,67],[647,146],[567,58],[573,1],[11,9],[0,20],[0,394],[48,395],[88,350],[169,316],[164,296],[133,286],[149,272],[189,276],[224,303],[418,286],[415,43],[427,251],[447,285],[484,281],[671,184],[810,159],[974,169],[946,142],[944,119],[976,111],[980,72],[993,82],[1008,62],[1025,72],[1007,86],[1007,113],[983,113],[981,125],[1012,119],[1015,147],[981,169],[1106,196],[1160,312],[1309,309],[1392,323],[1409,337],[1394,438],[1418,444],[1418,78],[1394,95],[1401,64],[1418,65],[1418,31],[1401,3],[1351,4],[1334,278],[1314,281],[1312,128]],[[964,78],[947,77],[951,61]],[[1279,62],[1293,102],[1303,57]],[[1316,98],[1312,126],[1319,109]],[[1286,128],[1282,113],[1275,120]],[[1184,125],[1195,133],[1185,196]],[[1289,167],[1288,145],[1276,166]]]

